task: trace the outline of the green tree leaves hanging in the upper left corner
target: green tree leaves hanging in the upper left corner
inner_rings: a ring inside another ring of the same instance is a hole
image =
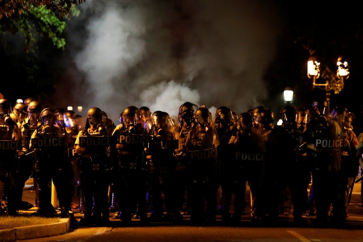
[[[63,49],[66,45],[62,37],[66,27],[63,18],[70,18],[74,6],[81,2],[84,0],[0,0],[0,33],[23,33],[26,51],[35,41],[34,32]]]

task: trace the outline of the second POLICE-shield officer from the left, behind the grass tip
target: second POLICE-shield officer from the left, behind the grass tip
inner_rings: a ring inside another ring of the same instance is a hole
[[[31,136],[29,148],[34,149],[33,173],[39,186],[39,206],[34,215],[53,216],[56,214],[51,204],[51,183],[57,191],[61,216],[69,216],[70,164],[65,159],[65,139],[61,129],[55,126],[55,111],[44,108],[36,130]]]

